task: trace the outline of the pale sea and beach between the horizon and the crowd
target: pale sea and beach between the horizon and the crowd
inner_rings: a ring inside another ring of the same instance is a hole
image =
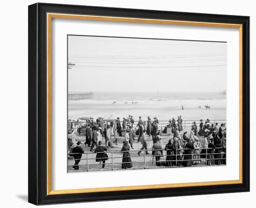
[[[226,120],[226,101],[226,95],[219,92],[94,92],[92,99],[68,101],[68,119],[122,119],[131,115],[135,120],[139,116],[143,120],[156,116],[166,121],[181,115],[183,120]],[[205,105],[209,105],[210,110],[206,110]]]

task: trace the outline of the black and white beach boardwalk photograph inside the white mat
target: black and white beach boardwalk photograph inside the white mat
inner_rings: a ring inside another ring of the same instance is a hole
[[[67,35],[67,172],[227,165],[227,42]]]

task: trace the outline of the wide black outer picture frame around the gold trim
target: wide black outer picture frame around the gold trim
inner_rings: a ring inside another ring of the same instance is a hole
[[[240,184],[47,195],[47,13],[243,25],[243,182]],[[249,191],[249,17],[36,3],[28,6],[28,202],[35,205]]]

